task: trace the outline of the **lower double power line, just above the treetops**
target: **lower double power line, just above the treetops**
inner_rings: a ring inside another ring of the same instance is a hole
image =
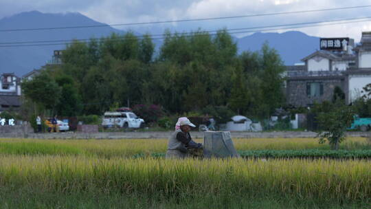
[[[364,22],[364,21],[370,21],[370,19],[371,19],[371,17],[362,17],[362,18],[341,19],[341,20],[333,20],[333,21],[317,21],[317,22],[310,22],[310,23],[291,23],[291,24],[285,24],[285,25],[269,25],[269,26],[260,26],[260,27],[251,27],[251,28],[234,28],[234,29],[226,29],[226,31],[232,31],[232,32],[229,32],[229,34],[264,32],[264,31],[272,31],[272,30],[288,30],[288,29],[294,29],[294,28],[311,28],[311,27],[319,27],[319,26],[325,26],[325,25],[340,25],[340,24],[348,24],[348,23],[359,23],[359,22]],[[348,22],[333,23],[335,21],[348,21]],[[304,26],[294,26],[294,25],[304,25]],[[290,26],[290,27],[288,27],[288,26]],[[261,30],[251,30],[251,29],[258,29],[258,28],[262,28],[262,29]],[[264,28],[266,28],[266,29],[264,29]],[[239,31],[234,32],[236,30],[239,30]],[[216,35],[216,34],[209,34],[209,32],[218,32],[218,30],[209,30],[209,31],[201,31],[201,32],[205,32],[207,34],[196,34],[196,35],[212,35],[213,36],[213,35]],[[186,32],[186,33],[182,33],[182,34],[192,34],[192,32]],[[172,35],[174,35],[174,34],[172,34]],[[153,40],[165,39],[164,34],[155,34],[154,36],[163,36],[163,37],[153,38]],[[137,37],[139,37],[139,36],[137,36]],[[91,40],[91,39],[74,39],[72,41],[89,41],[89,40]],[[122,37],[117,38],[117,39],[113,39],[113,41],[120,41],[120,40],[122,40]],[[71,40],[58,40],[58,41],[28,41],[28,42],[0,43],[0,47],[66,45],[68,43],[72,43],[72,41]],[[60,42],[60,43],[53,43],[53,42]],[[21,43],[23,45],[14,45],[14,44],[21,44]],[[27,45],[25,45],[24,43],[45,43],[45,44],[34,44],[34,45],[27,44]],[[87,42],[85,42],[85,43],[87,43]],[[8,45],[4,45],[4,44],[8,44]],[[13,44],[13,45],[11,45],[11,44]]]

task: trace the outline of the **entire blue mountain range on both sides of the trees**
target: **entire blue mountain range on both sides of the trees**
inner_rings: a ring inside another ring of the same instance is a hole
[[[85,17],[78,12],[48,14],[32,11],[16,14],[12,17],[5,17],[0,20],[0,30],[59,28],[81,25],[106,24],[89,19],[89,17]],[[112,32],[124,33],[124,31],[111,28],[108,25],[106,27],[96,28],[0,32],[0,43],[90,39],[91,37],[100,38],[102,36],[108,36]],[[236,38],[236,41],[238,43],[238,52],[260,50],[262,43],[268,41],[270,47],[278,50],[286,65],[293,65],[293,63],[299,62],[301,58],[317,50],[319,45],[318,37],[308,36],[302,32],[284,32],[282,34],[255,33],[240,39]],[[158,50],[162,42],[159,40],[155,40],[155,42]],[[0,47],[0,73],[14,72],[17,76],[23,76],[27,72],[45,65],[52,58],[54,50],[61,50],[64,47],[65,45]]]

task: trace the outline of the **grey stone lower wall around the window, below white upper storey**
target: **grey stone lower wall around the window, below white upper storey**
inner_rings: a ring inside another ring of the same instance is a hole
[[[320,82],[324,85],[324,94],[311,98],[306,95],[306,83]],[[286,99],[288,104],[295,107],[306,107],[314,102],[323,102],[333,98],[335,87],[339,86],[344,91],[344,78],[315,79],[306,78],[302,80],[287,80]]]

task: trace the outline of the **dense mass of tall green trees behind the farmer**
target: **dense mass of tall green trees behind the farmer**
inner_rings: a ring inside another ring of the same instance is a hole
[[[267,118],[284,102],[280,56],[267,43],[260,52],[237,52],[226,30],[166,32],[157,53],[149,34],[111,34],[67,45],[63,64],[46,67],[23,90],[61,116],[101,115],[116,104],[156,104],[168,113],[226,107]]]

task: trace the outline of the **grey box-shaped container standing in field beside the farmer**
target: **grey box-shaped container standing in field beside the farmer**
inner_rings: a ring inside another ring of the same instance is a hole
[[[203,137],[205,157],[240,157],[234,148],[229,131],[206,131]]]

